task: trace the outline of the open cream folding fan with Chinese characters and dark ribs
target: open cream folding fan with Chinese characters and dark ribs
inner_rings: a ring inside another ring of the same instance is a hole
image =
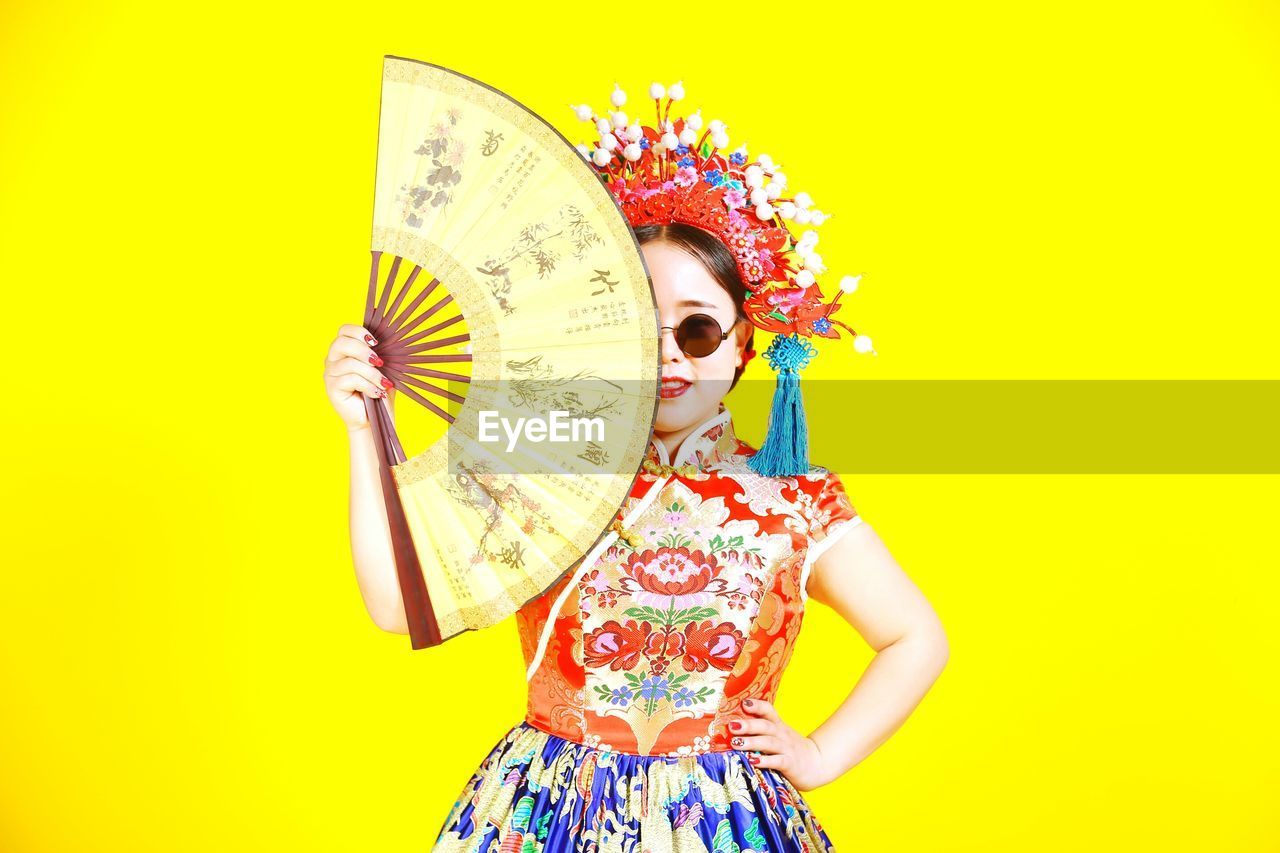
[[[417,649],[503,620],[599,543],[653,429],[659,329],[591,165],[515,99],[430,63],[384,58],[371,251],[379,370],[447,424],[407,456],[387,400],[365,400]],[[603,419],[604,438],[493,441],[552,411]]]

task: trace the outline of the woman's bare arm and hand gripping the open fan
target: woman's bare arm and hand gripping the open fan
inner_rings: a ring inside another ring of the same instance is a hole
[[[396,392],[383,388],[381,361],[369,346],[369,330],[343,324],[325,356],[324,384],[329,401],[347,426],[351,451],[351,557],[365,610],[387,631],[408,634],[392,549],[387,503],[378,470],[374,430],[365,412],[365,397],[387,398],[394,420]]]

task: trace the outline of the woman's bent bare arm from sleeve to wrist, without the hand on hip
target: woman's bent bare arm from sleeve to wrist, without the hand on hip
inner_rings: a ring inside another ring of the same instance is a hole
[[[818,784],[826,784],[906,721],[946,666],[950,647],[924,593],[869,524],[844,533],[818,557],[808,590],[876,649],[849,697],[809,735],[820,754]]]

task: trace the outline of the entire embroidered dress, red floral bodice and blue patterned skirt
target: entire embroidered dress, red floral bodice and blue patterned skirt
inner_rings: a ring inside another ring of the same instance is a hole
[[[762,476],[721,403],[675,460],[654,439],[611,533],[516,620],[525,719],[435,850],[832,850],[780,771],[732,748],[773,702],[818,556],[861,523],[840,476]],[[625,537],[631,537],[627,542]]]

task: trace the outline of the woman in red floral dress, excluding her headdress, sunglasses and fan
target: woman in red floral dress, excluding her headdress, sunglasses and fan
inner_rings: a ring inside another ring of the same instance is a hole
[[[666,327],[646,467],[671,460],[700,470],[673,473],[653,526],[634,525],[644,542],[611,548],[599,570],[584,574],[550,631],[549,613],[571,576],[517,615],[534,669],[529,713],[463,788],[439,850],[477,849],[481,840],[479,849],[488,849],[517,836],[548,852],[732,849],[727,841],[758,850],[833,849],[800,792],[837,779],[883,743],[947,658],[937,616],[870,525],[858,523],[837,474],[815,469],[813,480],[783,487],[792,516],[730,506],[736,502],[726,496],[742,494],[742,483],[759,478],[744,465],[754,448],[735,437],[722,402],[750,352],[745,288],[728,251],[698,228],[641,225],[636,236]],[[682,352],[675,333],[696,314],[731,330],[701,357]],[[351,435],[360,589],[380,628],[407,633],[358,396],[383,391],[365,334],[358,325],[342,328],[325,383]],[[658,476],[641,474],[646,484]],[[708,547],[717,537],[722,547]],[[809,564],[805,549],[820,555]],[[664,597],[685,615],[699,612],[684,625],[613,617],[637,606],[669,615]],[[877,654],[845,702],[806,736],[778,715],[773,698],[808,597],[835,608]],[[727,748],[717,749],[722,740]]]

